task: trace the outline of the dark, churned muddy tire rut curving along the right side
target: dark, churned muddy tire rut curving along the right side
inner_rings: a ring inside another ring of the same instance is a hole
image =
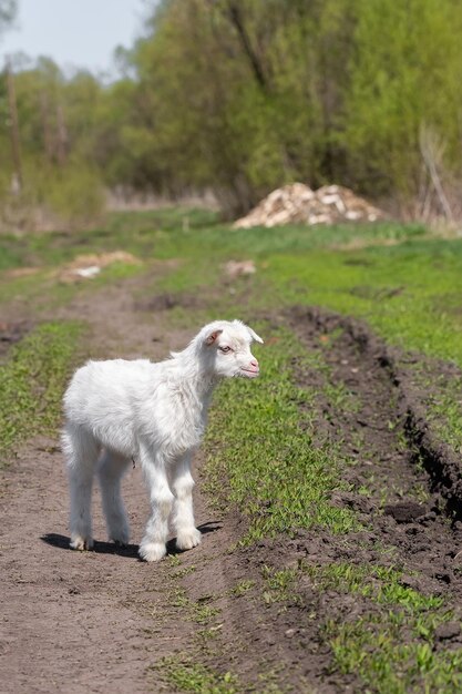
[[[320,389],[320,438],[350,461],[345,478],[352,491],[335,494],[333,502],[372,521],[373,539],[394,549],[393,562],[419,573],[419,590],[460,600],[461,461],[425,417],[423,392],[405,366],[419,357],[386,346],[366,324],[326,310],[294,309],[289,324],[309,349],[322,351],[332,381],[358,401],[358,409],[342,409],[324,400]],[[319,386],[317,378],[302,367],[298,372],[302,387]],[[378,558],[358,554],[361,561]]]

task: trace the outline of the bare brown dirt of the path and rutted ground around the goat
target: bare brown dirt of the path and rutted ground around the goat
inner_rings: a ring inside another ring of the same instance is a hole
[[[89,353],[155,359],[191,337],[185,330],[165,333],[162,315],[140,310],[168,310],[174,300],[152,297],[140,307],[134,287],[131,280],[66,308],[66,317],[83,317],[92,326]],[[171,543],[170,557],[146,564],[137,559],[136,542],[148,504],[135,468],[124,481],[133,544],[116,550],[105,542],[95,490],[95,551],[72,552],[58,442],[31,441],[2,473],[0,488],[1,692],[176,692],[158,671],[171,656],[236,673],[243,691],[270,691],[271,683],[292,685],[295,692],[361,691],[355,677],[332,672],[320,624],[330,616],[360,616],[370,605],[335,590],[320,592],[308,576],[297,600],[265,601],[263,568],[379,559],[383,564],[378,543],[393,550],[390,564],[403,568],[407,584],[461,601],[459,461],[428,427],[407,370],[412,357],[388,350],[363,325],[324,312],[294,309],[267,318],[269,328],[283,323],[307,350],[321,350],[335,379],[357,397],[358,407],[338,407],[322,396],[319,371],[294,361],[300,388],[319,391],[309,405],[319,441],[331,440],[356,461],[346,470],[352,491],[335,493],[332,503],[357,510],[368,530],[348,537],[299,530],[236,549],[245,522],[233,509],[220,517],[211,510],[198,469],[202,544],[175,555]],[[367,496],[359,491],[365,484]],[[239,590],[243,582],[246,590]],[[441,641],[444,647],[460,646],[462,635],[454,627]]]

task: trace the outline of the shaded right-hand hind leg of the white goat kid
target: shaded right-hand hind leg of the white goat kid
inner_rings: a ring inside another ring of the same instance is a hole
[[[121,481],[129,465],[124,456],[104,450],[97,468],[109,539],[121,547],[130,540],[129,519],[121,496]]]

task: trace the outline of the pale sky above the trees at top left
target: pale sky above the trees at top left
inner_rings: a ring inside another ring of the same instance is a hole
[[[114,49],[133,44],[153,6],[154,0],[19,0],[14,27],[0,37],[0,60],[23,52],[52,58],[65,72],[111,74]]]

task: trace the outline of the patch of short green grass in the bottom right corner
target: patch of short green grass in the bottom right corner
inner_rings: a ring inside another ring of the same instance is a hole
[[[321,623],[321,639],[332,652],[332,672],[355,675],[362,682],[361,691],[377,694],[460,690],[462,649],[435,650],[437,627],[454,619],[440,595],[409,588],[394,567],[301,560],[287,569],[264,567],[261,600],[302,605],[298,584],[306,584],[306,576],[318,593],[351,594],[365,606],[356,619],[348,613],[327,621],[321,613],[309,615]]]

